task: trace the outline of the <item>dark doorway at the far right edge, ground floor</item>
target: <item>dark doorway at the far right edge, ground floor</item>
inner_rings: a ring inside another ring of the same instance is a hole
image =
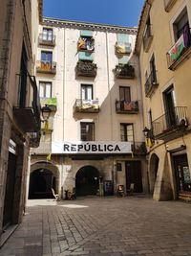
[[[177,182],[177,197],[179,198],[180,194],[191,193],[191,178],[187,154],[174,155],[173,160]]]

